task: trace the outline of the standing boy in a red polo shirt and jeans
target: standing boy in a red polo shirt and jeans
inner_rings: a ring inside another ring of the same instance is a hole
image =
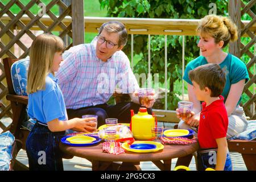
[[[218,64],[205,64],[189,72],[196,98],[204,101],[200,115],[198,140],[200,151],[197,154],[197,169],[232,171],[232,162],[226,142],[228,114],[224,98],[226,77]]]

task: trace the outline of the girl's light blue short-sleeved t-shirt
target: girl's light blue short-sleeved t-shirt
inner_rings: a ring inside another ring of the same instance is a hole
[[[68,119],[63,94],[57,84],[58,79],[49,73],[46,77],[46,89],[28,94],[28,116],[42,123],[58,118]]]

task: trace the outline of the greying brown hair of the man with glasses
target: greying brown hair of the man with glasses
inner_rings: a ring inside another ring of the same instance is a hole
[[[98,31],[98,34],[101,34],[102,30],[105,30],[107,32],[118,32],[119,40],[118,40],[118,46],[125,46],[128,34],[127,30],[125,28],[125,25],[118,21],[110,21],[102,24],[100,27],[100,30]]]

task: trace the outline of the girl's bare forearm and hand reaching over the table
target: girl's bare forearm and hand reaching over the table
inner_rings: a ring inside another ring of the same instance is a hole
[[[93,119],[96,120],[96,118],[73,118],[68,121],[60,121],[56,118],[47,122],[47,125],[52,132],[65,131],[68,129],[77,129],[79,131],[88,132],[88,130],[94,130],[96,127],[96,123],[89,122]]]

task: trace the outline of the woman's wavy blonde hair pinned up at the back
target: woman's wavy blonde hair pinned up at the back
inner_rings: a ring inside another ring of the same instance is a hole
[[[228,45],[229,41],[234,42],[238,38],[236,24],[230,18],[218,15],[204,16],[200,20],[196,32],[199,35],[212,36],[215,43],[222,40],[224,42],[222,48]]]

